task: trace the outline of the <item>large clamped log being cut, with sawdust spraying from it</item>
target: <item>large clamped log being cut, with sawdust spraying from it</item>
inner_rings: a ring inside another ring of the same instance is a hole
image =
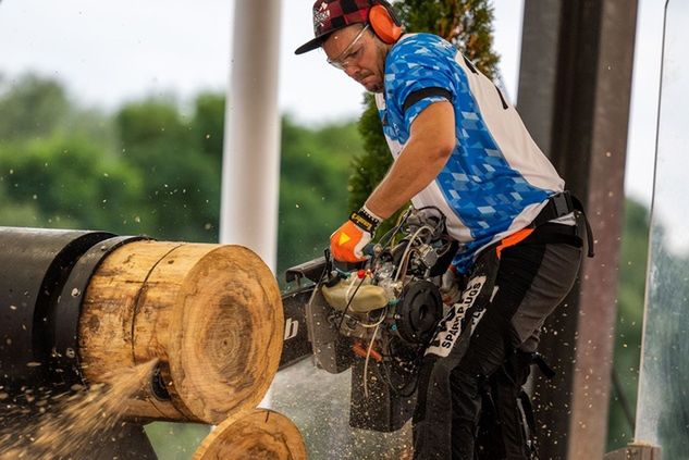
[[[218,424],[263,397],[282,352],[280,290],[241,246],[136,241],[109,254],[84,295],[88,383],[158,359],[127,418]]]

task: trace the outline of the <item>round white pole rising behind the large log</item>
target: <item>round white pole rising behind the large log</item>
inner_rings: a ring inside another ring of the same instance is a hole
[[[276,270],[280,0],[235,0],[225,103],[220,241]]]

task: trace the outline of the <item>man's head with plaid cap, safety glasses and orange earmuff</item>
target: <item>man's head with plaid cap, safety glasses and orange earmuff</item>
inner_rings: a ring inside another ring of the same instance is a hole
[[[369,91],[382,91],[385,55],[402,35],[390,4],[381,0],[317,0],[313,35],[296,54],[322,47],[329,63]]]

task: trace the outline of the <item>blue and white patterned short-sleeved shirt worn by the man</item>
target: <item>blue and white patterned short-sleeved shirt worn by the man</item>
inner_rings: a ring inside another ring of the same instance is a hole
[[[419,113],[443,100],[454,105],[456,146],[411,202],[445,214],[450,235],[460,243],[453,263],[466,273],[478,251],[529,225],[564,181],[497,87],[431,34],[403,36],[385,59],[384,92],[376,102],[393,158]]]

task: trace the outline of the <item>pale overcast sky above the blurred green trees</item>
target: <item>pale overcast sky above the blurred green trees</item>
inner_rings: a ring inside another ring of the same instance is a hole
[[[248,1],[248,0],[245,0]],[[670,0],[676,1],[676,0]],[[625,190],[650,203],[665,0],[639,0]],[[312,0],[282,2],[279,105],[304,124],[354,119],[362,90],[315,51]],[[494,0],[494,46],[508,96],[517,96],[522,0]],[[0,77],[34,72],[63,82],[74,100],[115,110],[174,95],[224,91],[232,73],[235,0],[0,0]],[[1,116],[1,114],[0,114]]]

